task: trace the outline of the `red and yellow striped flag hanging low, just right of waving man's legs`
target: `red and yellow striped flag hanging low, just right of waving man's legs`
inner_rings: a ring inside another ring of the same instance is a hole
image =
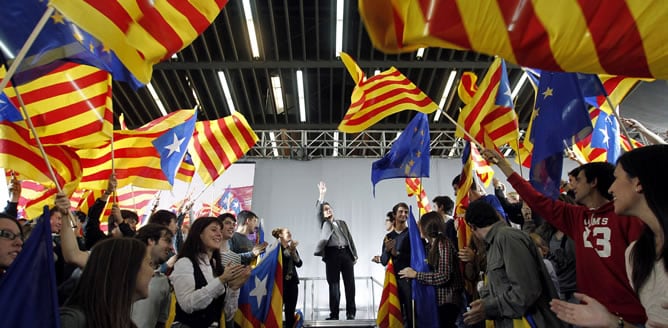
[[[383,293],[380,296],[376,324],[380,328],[402,328],[404,326],[401,304],[399,304],[397,277],[394,275],[392,260],[385,268],[385,282],[383,282]]]

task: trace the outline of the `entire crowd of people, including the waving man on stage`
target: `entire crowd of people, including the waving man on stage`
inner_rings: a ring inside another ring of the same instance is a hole
[[[626,152],[616,166],[580,165],[556,200],[536,191],[497,151],[481,154],[516,194],[499,180],[494,194],[486,194],[474,181],[459,218],[451,198],[436,197],[436,211],[417,222],[419,245],[409,238],[408,205],[387,213],[388,232],[372,261],[393,263],[404,327],[420,326],[413,280],[434,286],[430,301],[440,327],[668,327],[668,205],[661,191],[668,183],[668,145]],[[184,233],[184,213],[155,211],[137,229],[136,213],[113,205],[107,234],[99,218],[116,184],[112,175],[88,213],[72,213],[64,194],[50,211],[62,326],[234,327],[240,289],[268,247],[257,235],[258,216],[200,217]],[[342,319],[343,280],[345,319],[354,320],[357,248],[346,221],[325,201],[325,183],[317,188],[314,256],[325,262],[327,319]],[[9,191],[0,213],[0,281],[30,232],[30,222],[17,220],[20,183],[13,180]],[[459,240],[462,225],[470,240]],[[285,227],[271,235],[282,252],[285,326],[294,327],[299,243]],[[411,267],[415,247],[424,248],[428,270]]]

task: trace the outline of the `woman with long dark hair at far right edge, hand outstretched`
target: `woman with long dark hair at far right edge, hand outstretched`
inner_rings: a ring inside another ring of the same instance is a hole
[[[636,216],[646,226],[640,238],[626,249],[626,273],[647,312],[647,327],[668,327],[668,145],[632,150],[617,161],[610,186],[615,213]],[[585,327],[630,326],[586,295],[585,304],[552,302],[564,321]]]

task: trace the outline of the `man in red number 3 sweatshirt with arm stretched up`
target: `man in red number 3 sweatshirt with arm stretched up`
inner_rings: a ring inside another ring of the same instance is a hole
[[[496,151],[485,150],[487,162],[497,163],[522,199],[545,221],[575,241],[578,291],[634,324],[647,321],[638,296],[626,276],[624,251],[638,239],[644,225],[635,217],[617,215],[608,192],[614,181],[610,163],[580,166],[572,181],[575,201],[555,201],[536,191]]]

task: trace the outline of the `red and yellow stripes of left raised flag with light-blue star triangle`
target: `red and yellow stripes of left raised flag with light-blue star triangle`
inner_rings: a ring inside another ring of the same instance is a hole
[[[137,130],[114,132],[113,166],[118,188],[128,185],[150,189],[171,189],[160,166],[160,154],[152,142],[169,129],[194,115],[194,110],[179,110],[147,123]],[[83,166],[79,188],[103,190],[112,173],[111,145],[77,151]]]

